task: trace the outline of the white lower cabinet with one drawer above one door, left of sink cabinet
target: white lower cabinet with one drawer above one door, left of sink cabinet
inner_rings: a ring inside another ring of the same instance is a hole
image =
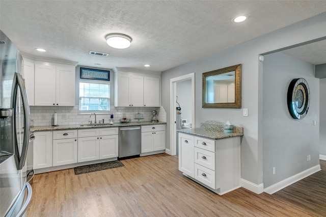
[[[53,167],[76,162],[77,130],[53,131]]]

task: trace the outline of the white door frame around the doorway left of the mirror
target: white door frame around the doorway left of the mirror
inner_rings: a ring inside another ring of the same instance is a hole
[[[179,77],[174,77],[170,79],[170,154],[176,155],[176,146],[177,146],[177,125],[176,125],[176,90],[177,83],[183,82],[184,80],[192,81],[192,126],[195,127],[195,73],[190,73],[182,75]]]

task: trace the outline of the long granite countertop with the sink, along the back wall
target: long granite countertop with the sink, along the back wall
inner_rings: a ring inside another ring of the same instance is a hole
[[[104,128],[104,127],[124,127],[124,126],[142,126],[142,125],[153,125],[153,124],[167,124],[166,122],[129,122],[129,123],[114,123],[92,126],[88,124],[76,124],[76,125],[60,125],[60,126],[34,126],[31,127],[31,131],[52,131],[52,130],[69,130],[69,129],[90,129],[90,128]]]

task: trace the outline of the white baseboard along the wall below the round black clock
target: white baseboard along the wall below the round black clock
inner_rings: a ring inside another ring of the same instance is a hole
[[[282,180],[282,181],[280,181],[280,182],[278,182],[276,184],[273,184],[273,185],[271,185],[269,187],[266,187],[264,189],[264,192],[266,192],[267,194],[272,195],[272,194],[280,191],[282,188],[287,187],[290,184],[293,184],[294,182],[300,181],[301,179],[306,178],[307,176],[310,176],[310,175],[312,175],[312,174],[314,174],[314,173],[316,173],[318,171],[320,171],[320,165],[316,165],[316,166],[314,166],[312,168],[309,168],[308,170],[305,170],[305,171],[303,171],[301,173],[298,173],[298,174],[296,174],[294,176],[291,176],[291,177],[289,177],[287,179],[284,179],[284,180]]]

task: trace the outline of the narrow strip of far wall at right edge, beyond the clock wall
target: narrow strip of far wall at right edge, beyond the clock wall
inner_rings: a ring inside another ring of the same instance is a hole
[[[319,79],[319,154],[326,159],[326,78]]]

